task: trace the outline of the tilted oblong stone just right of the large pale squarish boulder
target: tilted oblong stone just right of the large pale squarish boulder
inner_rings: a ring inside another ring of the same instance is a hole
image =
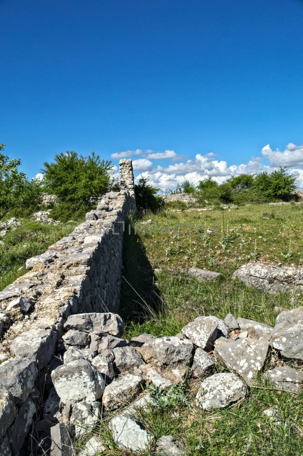
[[[143,380],[140,375],[126,374],[106,386],[103,405],[107,410],[115,410],[129,403],[141,392]]]

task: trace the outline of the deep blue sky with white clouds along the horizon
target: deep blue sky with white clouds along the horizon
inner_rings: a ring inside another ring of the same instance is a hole
[[[0,142],[29,177],[69,149],[124,152],[162,190],[280,164],[303,187],[303,1],[0,0],[0,17]]]

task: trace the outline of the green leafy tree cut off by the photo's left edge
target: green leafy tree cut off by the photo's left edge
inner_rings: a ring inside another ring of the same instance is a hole
[[[4,150],[4,146],[0,143],[0,150]],[[20,159],[9,160],[7,155],[0,153],[0,218],[17,207],[34,208],[41,202],[41,182],[39,179],[29,181],[18,171],[20,165]]]

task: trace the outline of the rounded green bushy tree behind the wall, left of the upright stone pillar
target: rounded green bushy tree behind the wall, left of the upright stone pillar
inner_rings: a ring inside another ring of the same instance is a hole
[[[48,193],[57,196],[52,217],[67,221],[84,216],[97,197],[108,191],[111,169],[111,162],[101,160],[95,152],[84,157],[67,150],[56,154],[52,163],[44,162],[42,182]]]

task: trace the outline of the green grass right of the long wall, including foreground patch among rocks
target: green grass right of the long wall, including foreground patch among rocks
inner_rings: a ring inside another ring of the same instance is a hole
[[[264,217],[268,217],[265,219]],[[125,338],[142,333],[157,337],[172,336],[199,315],[224,318],[227,313],[274,325],[275,306],[290,309],[303,304],[296,292],[266,295],[231,280],[235,269],[249,260],[300,266],[303,258],[303,205],[270,206],[261,204],[239,209],[209,212],[147,213],[142,221],[167,228],[180,224],[209,228],[217,225],[218,234],[168,234],[147,225],[147,233],[131,235],[125,230],[124,273],[121,315],[126,321]],[[129,221],[132,227],[140,220]],[[126,223],[127,226],[127,223]],[[203,228],[204,229],[204,228]],[[177,231],[177,229],[176,229]],[[222,274],[219,282],[199,283],[187,274],[189,267],[211,269]],[[273,359],[274,358],[274,359]],[[277,354],[268,357],[266,369],[280,363]],[[287,362],[302,368],[302,365]],[[217,372],[227,371],[217,365]],[[206,412],[194,404],[201,379],[183,383],[189,404],[172,400],[137,412],[137,420],[155,436],[173,435],[188,449],[188,456],[302,456],[303,393],[275,390],[259,376],[246,400],[225,409]],[[282,423],[273,425],[262,411],[277,406]],[[112,456],[155,456],[154,446],[146,452],[121,450],[112,440],[108,421],[103,418],[97,432]],[[288,421],[287,421],[288,420]],[[84,438],[85,440],[85,438]],[[83,440],[83,441],[84,441]]]

